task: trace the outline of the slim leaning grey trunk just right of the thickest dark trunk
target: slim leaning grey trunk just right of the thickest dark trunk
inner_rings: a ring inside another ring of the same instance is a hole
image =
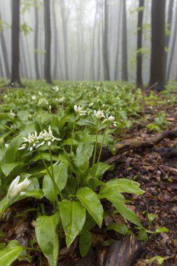
[[[171,22],[173,18],[173,7],[174,7],[174,0],[169,1],[169,10],[168,10],[168,20],[167,24],[169,25],[169,34],[165,36],[165,47],[167,48],[167,51],[169,50],[169,39],[172,36],[171,34]],[[165,74],[167,72],[167,57],[168,57],[168,52],[165,52],[164,54],[164,64],[165,64]],[[167,78],[168,80],[168,78]]]

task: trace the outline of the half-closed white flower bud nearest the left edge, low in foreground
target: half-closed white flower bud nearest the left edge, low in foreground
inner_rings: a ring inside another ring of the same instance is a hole
[[[10,183],[10,186],[8,188],[7,197],[8,200],[11,202],[15,200],[19,195],[24,195],[23,190],[29,186],[31,181],[29,179],[24,179],[24,181],[20,182],[20,176],[17,176],[12,183]]]

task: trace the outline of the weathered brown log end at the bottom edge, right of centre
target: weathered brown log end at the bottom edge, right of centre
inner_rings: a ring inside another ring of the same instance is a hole
[[[132,266],[142,253],[145,244],[134,235],[127,235],[120,241],[113,241],[108,248],[104,266]]]

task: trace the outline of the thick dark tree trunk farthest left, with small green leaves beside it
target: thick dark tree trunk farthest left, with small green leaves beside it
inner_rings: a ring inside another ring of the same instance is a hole
[[[19,63],[20,63],[20,0],[12,0],[12,69],[10,83],[22,85],[20,81]]]

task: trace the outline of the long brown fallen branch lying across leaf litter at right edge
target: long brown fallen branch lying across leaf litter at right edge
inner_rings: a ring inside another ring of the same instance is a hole
[[[143,138],[134,138],[134,139],[127,139],[125,141],[120,141],[115,144],[116,155],[106,160],[105,162],[108,165],[111,165],[113,162],[118,160],[120,154],[125,153],[125,151],[134,150],[134,148],[151,148],[158,144],[163,139],[174,139],[177,137],[177,127],[174,130],[164,130],[153,137],[148,139]],[[107,156],[106,156],[107,157]],[[107,157],[108,158],[108,157]]]

